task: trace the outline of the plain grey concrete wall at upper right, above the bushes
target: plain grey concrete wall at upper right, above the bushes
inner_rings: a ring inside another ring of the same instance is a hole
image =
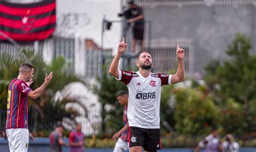
[[[235,33],[246,34],[255,42],[253,5],[158,6],[144,8],[144,14],[152,21],[152,39],[192,39],[194,73],[201,75],[210,60],[227,59],[225,51]]]

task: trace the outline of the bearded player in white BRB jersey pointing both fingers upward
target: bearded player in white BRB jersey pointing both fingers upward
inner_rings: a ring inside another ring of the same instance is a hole
[[[177,73],[166,75],[151,73],[153,62],[148,52],[142,52],[138,56],[136,65],[139,71],[118,70],[118,63],[126,46],[123,38],[110,65],[109,73],[125,83],[129,89],[127,117],[130,151],[142,151],[143,147],[145,151],[157,151],[161,149],[159,125],[161,86],[184,80],[184,49],[177,45]]]

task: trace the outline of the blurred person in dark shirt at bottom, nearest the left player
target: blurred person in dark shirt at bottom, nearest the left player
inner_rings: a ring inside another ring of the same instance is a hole
[[[49,135],[49,152],[62,152],[62,146],[67,146],[67,144],[62,140],[62,133],[64,127],[58,124],[54,131]]]

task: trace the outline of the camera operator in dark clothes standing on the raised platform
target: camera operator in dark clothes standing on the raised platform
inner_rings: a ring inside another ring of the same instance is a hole
[[[133,40],[132,40],[132,52],[136,52],[136,44],[140,43],[139,52],[144,50],[143,37],[144,37],[144,16],[143,9],[138,6],[133,0],[128,2],[130,19],[129,23],[134,23],[133,25]]]

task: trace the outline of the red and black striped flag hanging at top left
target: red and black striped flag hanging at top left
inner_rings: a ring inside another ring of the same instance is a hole
[[[16,41],[44,40],[55,26],[55,0],[30,4],[0,1],[0,40],[6,40],[4,35]]]

